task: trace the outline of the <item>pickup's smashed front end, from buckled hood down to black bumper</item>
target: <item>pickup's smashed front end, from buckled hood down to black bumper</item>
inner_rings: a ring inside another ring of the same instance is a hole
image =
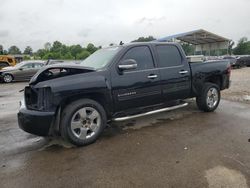
[[[94,70],[72,65],[48,66],[41,69],[24,89],[24,100],[18,112],[19,127],[31,134],[50,135],[58,119],[57,112],[60,112],[59,97],[52,91],[55,79],[91,71]]]

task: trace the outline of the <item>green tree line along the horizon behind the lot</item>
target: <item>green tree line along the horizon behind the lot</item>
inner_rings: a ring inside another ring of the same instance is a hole
[[[156,40],[153,36],[148,37],[139,37],[136,40],[131,42],[149,42]],[[110,46],[114,44],[111,43]],[[194,46],[181,43],[184,51],[187,55],[194,54]],[[237,45],[233,48],[234,43],[231,42],[229,45],[228,52],[234,55],[250,55],[250,41],[243,37],[241,38]],[[65,59],[65,60],[82,60],[87,58],[90,54],[94,53],[96,50],[102,48],[101,46],[95,46],[92,43],[89,43],[86,47],[82,47],[80,44],[77,45],[66,45],[60,41],[54,41],[52,44],[47,42],[45,43],[42,49],[39,49],[33,52],[33,49],[30,46],[27,46],[23,52],[17,46],[11,46],[8,50],[4,49],[3,45],[0,44],[0,55],[14,55],[14,54],[23,54],[26,56],[26,59],[29,59],[31,56],[34,59]]]

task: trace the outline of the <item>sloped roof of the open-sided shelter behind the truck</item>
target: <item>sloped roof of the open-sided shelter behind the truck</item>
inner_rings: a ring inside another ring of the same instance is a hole
[[[208,43],[218,43],[218,42],[229,42],[230,39],[225,37],[221,37],[214,33],[208,32],[204,29],[198,29],[194,31],[189,31],[185,33],[180,33],[176,35],[171,35],[167,37],[163,37],[157,39],[159,42],[172,41],[173,39],[177,39],[183,42],[187,42],[194,45],[199,44],[208,44]]]

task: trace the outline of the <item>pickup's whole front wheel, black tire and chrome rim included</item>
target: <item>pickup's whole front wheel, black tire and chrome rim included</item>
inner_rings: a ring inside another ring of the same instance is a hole
[[[77,100],[63,110],[61,135],[77,146],[92,144],[103,132],[106,122],[102,105],[91,99]]]

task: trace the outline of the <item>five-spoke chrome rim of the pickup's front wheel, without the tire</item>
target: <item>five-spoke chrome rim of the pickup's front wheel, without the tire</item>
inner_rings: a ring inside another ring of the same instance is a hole
[[[92,107],[79,109],[71,119],[71,131],[75,137],[86,140],[93,137],[101,126],[101,115]]]

